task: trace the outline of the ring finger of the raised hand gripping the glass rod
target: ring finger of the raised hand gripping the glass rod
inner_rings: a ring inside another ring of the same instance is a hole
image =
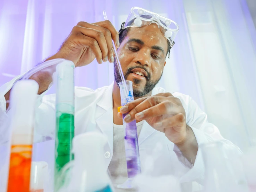
[[[80,22],[78,24],[82,25]],[[95,28],[97,28],[97,29],[95,29]],[[98,26],[95,28],[91,28],[91,26],[89,26],[89,25],[83,25],[83,26],[77,26],[76,30],[85,36],[88,36],[88,37],[91,37],[91,38],[94,38],[97,40],[97,42],[100,46],[100,49],[101,49],[102,60],[104,62],[106,62],[106,61],[108,61],[108,44],[106,42],[104,33],[101,32],[102,27]]]

